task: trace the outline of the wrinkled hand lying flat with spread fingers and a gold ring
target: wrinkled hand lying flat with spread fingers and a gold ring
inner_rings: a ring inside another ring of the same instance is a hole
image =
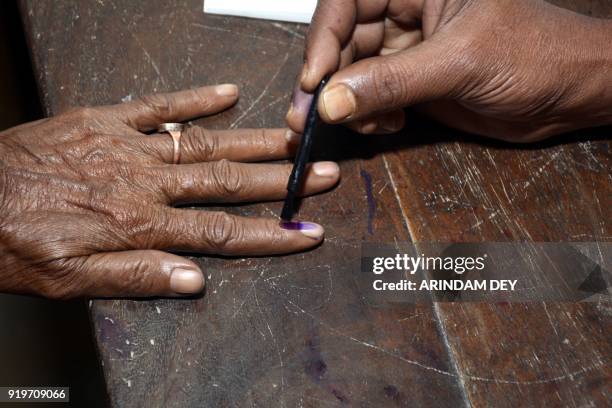
[[[319,244],[323,229],[276,219],[175,208],[177,203],[276,200],[290,165],[286,129],[188,127],[172,164],[163,122],[233,105],[234,85],[81,108],[0,133],[0,291],[50,298],[179,296],[204,286],[194,262],[167,250],[266,255]],[[335,163],[309,168],[304,194],[331,188]]]

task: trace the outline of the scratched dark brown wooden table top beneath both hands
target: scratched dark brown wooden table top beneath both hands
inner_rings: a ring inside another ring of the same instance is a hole
[[[284,125],[304,26],[204,15],[202,0],[21,6],[49,115],[236,82],[238,105],[198,123]],[[604,0],[572,7],[612,17]],[[198,299],[92,303],[113,405],[612,405],[609,305],[372,304],[354,278],[362,242],[611,241],[609,128],[516,147],[411,117],[392,138],[321,139],[343,178],[302,207],[326,227],[320,248],[199,258]]]

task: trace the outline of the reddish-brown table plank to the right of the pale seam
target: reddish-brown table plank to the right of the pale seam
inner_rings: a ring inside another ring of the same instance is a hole
[[[612,17],[604,1],[557,2]],[[418,124],[387,160],[414,241],[612,240],[610,129],[516,148]],[[612,309],[598,303],[438,304],[475,406],[612,405]]]

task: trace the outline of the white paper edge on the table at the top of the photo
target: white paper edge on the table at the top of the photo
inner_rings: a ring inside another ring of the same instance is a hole
[[[204,12],[310,23],[317,0],[204,0]]]

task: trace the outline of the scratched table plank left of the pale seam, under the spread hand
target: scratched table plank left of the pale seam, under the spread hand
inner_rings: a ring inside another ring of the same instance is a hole
[[[283,125],[302,27],[204,16],[201,0],[32,1],[23,9],[49,114],[237,81],[238,106],[203,123]],[[355,283],[362,240],[409,239],[376,139],[338,130],[324,139],[321,156],[345,156],[343,181],[302,209],[326,226],[323,246],[288,257],[201,258],[201,299],[93,302],[115,406],[466,404],[432,307],[371,304]],[[227,210],[276,216],[279,208]]]

